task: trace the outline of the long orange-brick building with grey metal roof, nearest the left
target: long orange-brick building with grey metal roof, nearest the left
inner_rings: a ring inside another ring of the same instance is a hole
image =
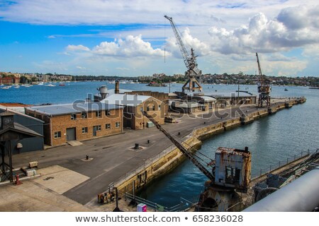
[[[45,121],[50,146],[123,132],[123,107],[101,102],[26,107],[26,114]]]

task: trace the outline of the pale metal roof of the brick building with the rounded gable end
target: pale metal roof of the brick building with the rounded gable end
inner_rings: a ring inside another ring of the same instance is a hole
[[[113,94],[101,100],[101,102],[111,105],[136,107],[142,102],[145,102],[145,100],[149,99],[150,97],[151,96],[145,95]]]

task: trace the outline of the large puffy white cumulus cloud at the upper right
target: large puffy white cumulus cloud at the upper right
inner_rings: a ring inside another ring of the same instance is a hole
[[[212,27],[212,48],[222,54],[279,52],[319,43],[319,6],[283,9],[277,18],[264,13],[250,18],[249,25],[235,30]]]

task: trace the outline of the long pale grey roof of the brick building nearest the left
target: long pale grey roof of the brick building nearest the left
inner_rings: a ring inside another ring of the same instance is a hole
[[[42,105],[26,107],[26,109],[40,112],[41,114],[48,115],[62,115],[81,112],[97,112],[103,110],[120,109],[123,107],[116,105],[107,105],[103,102],[74,102],[72,104],[65,105]]]

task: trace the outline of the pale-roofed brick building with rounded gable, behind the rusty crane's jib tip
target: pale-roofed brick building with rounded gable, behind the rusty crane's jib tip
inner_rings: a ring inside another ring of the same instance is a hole
[[[155,97],[145,95],[114,94],[101,100],[105,104],[123,106],[124,127],[131,129],[145,129],[154,124],[142,115],[145,111],[150,114],[159,124],[164,124],[164,103]]]

